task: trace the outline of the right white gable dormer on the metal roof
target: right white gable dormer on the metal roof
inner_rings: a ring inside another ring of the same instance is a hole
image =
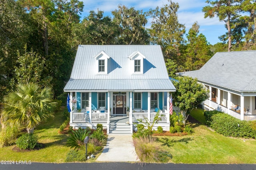
[[[146,57],[139,51],[134,51],[129,57],[133,66],[133,74],[143,74],[143,59]]]

